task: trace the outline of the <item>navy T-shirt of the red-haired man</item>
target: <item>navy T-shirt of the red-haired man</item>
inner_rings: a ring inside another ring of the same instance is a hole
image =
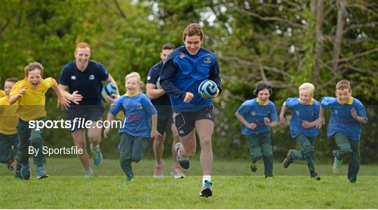
[[[102,105],[101,91],[102,81],[109,78],[109,73],[104,65],[90,60],[87,69],[80,71],[75,60],[66,64],[60,73],[59,83],[69,87],[69,93],[78,90],[78,94],[83,96],[78,105]]]

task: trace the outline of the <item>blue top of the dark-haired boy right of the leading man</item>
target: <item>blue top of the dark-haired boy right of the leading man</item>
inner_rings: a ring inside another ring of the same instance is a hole
[[[262,132],[270,131],[270,127],[265,125],[264,118],[269,118],[270,122],[277,121],[276,106],[274,103],[269,101],[267,105],[260,105],[257,102],[257,98],[246,100],[239,109],[237,113],[241,114],[248,123],[255,123],[257,126],[254,130],[249,129],[244,124],[241,124],[241,134],[260,134]]]

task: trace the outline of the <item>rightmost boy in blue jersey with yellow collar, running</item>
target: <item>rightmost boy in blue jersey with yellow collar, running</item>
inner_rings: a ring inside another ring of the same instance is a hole
[[[341,80],[336,85],[336,97],[323,97],[319,111],[318,125],[323,125],[325,107],[331,109],[327,136],[333,138],[337,150],[332,151],[334,158],[333,172],[339,174],[342,158],[349,155],[348,181],[356,183],[360,169],[360,136],[361,123],[367,123],[365,107],[356,98],[352,97],[351,84],[348,80]]]

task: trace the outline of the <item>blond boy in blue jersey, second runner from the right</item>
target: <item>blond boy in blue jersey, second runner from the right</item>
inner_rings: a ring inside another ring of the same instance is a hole
[[[293,116],[290,121],[290,134],[300,144],[300,151],[289,150],[283,167],[287,168],[294,160],[306,160],[311,178],[319,181],[320,176],[315,172],[314,167],[314,140],[319,130],[316,122],[319,116],[320,103],[314,99],[314,85],[303,83],[299,87],[299,98],[286,99],[281,108],[279,123],[281,127],[287,127],[285,119],[286,109],[293,109]]]

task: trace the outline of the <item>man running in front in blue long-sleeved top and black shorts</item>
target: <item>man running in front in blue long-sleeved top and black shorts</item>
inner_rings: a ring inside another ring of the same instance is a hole
[[[213,104],[198,94],[198,87],[204,80],[213,80],[221,92],[221,78],[215,55],[201,48],[204,38],[202,27],[192,23],[183,31],[185,45],[171,52],[162,67],[160,84],[169,94],[174,111],[174,123],[179,131],[180,141],[175,144],[179,164],[189,168],[188,158],[195,155],[195,130],[200,137],[202,166],[202,190],[200,196],[212,195],[211,169],[213,151],[211,136],[214,131]]]

